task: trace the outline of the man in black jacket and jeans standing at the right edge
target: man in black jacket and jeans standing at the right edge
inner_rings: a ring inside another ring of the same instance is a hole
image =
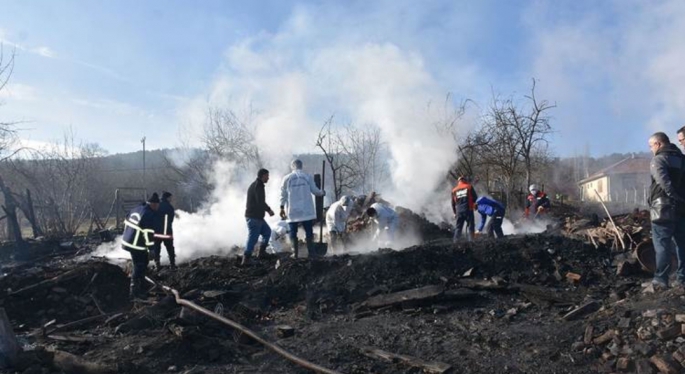
[[[685,156],[668,136],[657,132],[649,138],[649,149],[654,154],[649,165],[652,184],[649,188],[649,207],[652,219],[652,241],[656,252],[656,271],[652,283],[668,287],[674,243],[678,255],[677,282],[685,283],[685,232],[678,229],[685,217]]]

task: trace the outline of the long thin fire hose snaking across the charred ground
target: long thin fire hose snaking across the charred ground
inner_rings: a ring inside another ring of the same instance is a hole
[[[201,306],[199,306],[199,305],[197,305],[191,301],[182,299],[181,296],[179,295],[178,291],[176,291],[175,289],[173,289],[171,287],[167,287],[167,286],[158,284],[155,281],[153,281],[152,279],[150,279],[149,277],[145,277],[145,279],[148,282],[152,283],[153,285],[155,285],[157,287],[161,287],[165,292],[173,294],[174,298],[176,299],[176,304],[188,307],[188,308],[190,308],[196,312],[204,314],[205,316],[207,316],[209,318],[212,318],[216,321],[219,321],[219,322],[223,323],[224,325],[228,325],[228,326],[242,332],[243,334],[245,334],[245,335],[249,336],[250,338],[256,340],[257,342],[259,342],[260,344],[262,344],[266,348],[269,348],[270,350],[278,353],[279,355],[283,356],[286,360],[288,360],[294,364],[297,364],[297,365],[299,365],[305,369],[309,369],[309,370],[312,370],[312,371],[317,372],[317,373],[341,374],[340,372],[327,369],[327,368],[319,366],[315,363],[312,363],[312,362],[309,362],[309,361],[304,360],[302,358],[299,358],[299,357],[295,356],[294,354],[286,351],[285,349],[279,347],[278,345],[273,344],[273,343],[269,343],[268,341],[264,340],[262,337],[257,335],[257,333],[255,333],[252,330],[248,329],[247,327],[239,324],[238,322],[235,322],[235,321],[232,321],[226,317],[220,316],[220,315],[218,315],[218,314],[216,314],[216,313],[214,313],[208,309],[205,309],[205,308],[203,308],[203,307],[201,307]]]

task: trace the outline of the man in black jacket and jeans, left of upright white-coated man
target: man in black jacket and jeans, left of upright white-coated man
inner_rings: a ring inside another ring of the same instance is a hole
[[[264,221],[264,214],[269,213],[274,215],[274,211],[266,204],[266,193],[264,192],[264,184],[269,181],[269,171],[260,169],[257,172],[257,180],[255,180],[247,189],[247,207],[245,208],[245,220],[247,221],[247,243],[245,244],[245,253],[243,254],[242,265],[247,265],[252,257],[252,251],[257,244],[259,236],[262,237],[262,244],[259,247],[259,253],[264,253],[266,247],[269,245],[269,238],[271,237],[271,228],[269,224]]]

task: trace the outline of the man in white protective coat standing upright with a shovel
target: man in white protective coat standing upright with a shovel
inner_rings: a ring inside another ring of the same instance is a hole
[[[314,253],[314,220],[316,209],[314,208],[314,196],[324,196],[325,192],[314,184],[311,174],[302,171],[302,161],[294,160],[290,164],[292,173],[283,178],[281,185],[281,218],[286,219],[290,226],[290,242],[299,256],[299,243],[297,242],[297,228],[300,224],[304,227],[307,251]]]

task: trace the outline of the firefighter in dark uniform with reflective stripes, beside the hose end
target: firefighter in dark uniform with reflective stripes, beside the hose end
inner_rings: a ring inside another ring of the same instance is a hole
[[[124,221],[121,247],[131,253],[131,298],[145,297],[145,272],[149,261],[148,250],[154,245],[155,211],[159,209],[159,196],[153,193],[147,204],[131,209]]]

